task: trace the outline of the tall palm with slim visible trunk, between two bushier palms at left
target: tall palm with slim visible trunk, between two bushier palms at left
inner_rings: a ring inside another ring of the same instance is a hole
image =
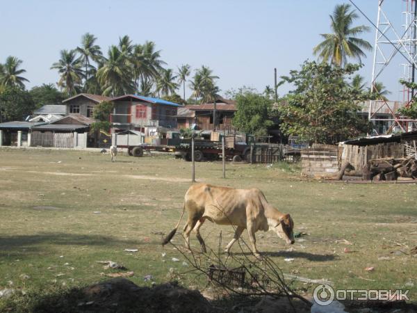
[[[99,45],[95,45],[95,41],[97,40],[97,38],[90,34],[90,33],[85,33],[82,37],[81,37],[81,47],[76,47],[76,51],[79,52],[79,54],[81,54],[81,62],[84,64],[85,67],[85,72],[84,72],[84,90],[87,91],[88,87],[88,80],[90,75],[92,74],[92,70],[95,69],[95,67],[93,67],[90,64],[90,59],[92,61],[95,61],[97,63],[101,62],[101,58],[103,56],[103,54],[101,53],[101,49],[99,47]]]

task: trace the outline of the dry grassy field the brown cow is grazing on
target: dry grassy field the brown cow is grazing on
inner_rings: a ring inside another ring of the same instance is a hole
[[[151,283],[145,275],[166,282],[170,268],[186,271],[179,252],[161,246],[159,232],[177,223],[190,176],[190,163],[167,155],[121,154],[111,163],[98,152],[0,149],[0,290],[104,280],[109,270],[101,260],[124,264],[140,285]],[[409,255],[417,246],[416,185],[309,182],[287,164],[227,163],[227,179],[221,176],[221,163],[196,163],[197,181],[260,188],[293,216],[295,232],[308,234],[287,250],[272,232],[257,233],[259,250],[284,273],[325,278],[339,289],[410,289],[416,300],[417,259]],[[220,230],[225,245],[231,227],[202,227],[208,246],[217,246]],[[174,242],[183,244],[179,235]],[[197,248],[194,236],[192,244]],[[369,266],[374,271],[365,271]]]

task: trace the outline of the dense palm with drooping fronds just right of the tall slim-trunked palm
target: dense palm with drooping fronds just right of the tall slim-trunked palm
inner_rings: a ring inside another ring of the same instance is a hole
[[[115,96],[133,92],[131,72],[126,65],[125,55],[116,46],[108,48],[108,58],[97,70],[97,81],[103,95]]]

